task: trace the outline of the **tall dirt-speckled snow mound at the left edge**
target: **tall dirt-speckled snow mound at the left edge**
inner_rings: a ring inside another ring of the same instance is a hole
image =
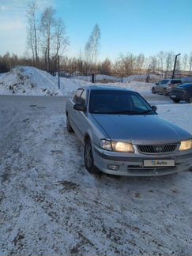
[[[15,66],[0,77],[1,94],[62,96],[58,79],[43,70],[29,66]]]

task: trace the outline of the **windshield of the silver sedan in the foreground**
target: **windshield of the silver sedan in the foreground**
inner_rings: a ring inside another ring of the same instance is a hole
[[[92,90],[89,112],[94,114],[154,115],[155,111],[137,92]]]

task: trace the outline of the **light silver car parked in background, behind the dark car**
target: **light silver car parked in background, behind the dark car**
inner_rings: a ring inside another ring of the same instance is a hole
[[[171,88],[175,88],[181,84],[182,81],[180,79],[164,79],[152,87],[152,93],[159,92],[168,95],[171,92]]]

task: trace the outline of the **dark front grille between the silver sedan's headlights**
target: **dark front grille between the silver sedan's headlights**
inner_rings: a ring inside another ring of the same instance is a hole
[[[177,144],[171,145],[137,145],[137,149],[142,153],[156,154],[162,152],[173,152],[177,148]]]

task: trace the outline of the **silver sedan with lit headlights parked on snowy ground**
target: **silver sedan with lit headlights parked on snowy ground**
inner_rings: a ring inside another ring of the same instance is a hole
[[[155,106],[125,88],[79,88],[66,102],[66,127],[83,143],[90,172],[152,176],[191,166],[191,134],[161,119]]]

